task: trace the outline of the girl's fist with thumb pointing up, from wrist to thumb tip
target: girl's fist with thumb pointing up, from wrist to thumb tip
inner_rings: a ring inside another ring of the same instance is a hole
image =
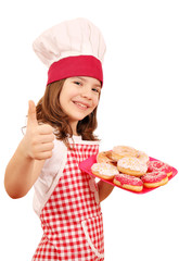
[[[36,105],[28,102],[27,129],[24,136],[26,154],[34,160],[46,160],[52,157],[54,134],[49,124],[38,124]]]

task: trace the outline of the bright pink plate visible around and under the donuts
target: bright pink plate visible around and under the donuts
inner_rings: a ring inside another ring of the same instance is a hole
[[[150,161],[153,161],[153,160],[156,160],[156,159],[150,157]],[[90,174],[90,175],[92,175],[92,176],[94,176],[94,177],[98,177],[98,176],[95,176],[95,175],[91,172],[91,166],[92,166],[94,163],[97,163],[97,156],[92,156],[92,157],[88,158],[87,160],[80,162],[80,163],[79,163],[79,167],[80,167],[81,171],[84,171],[84,172],[86,172],[86,173],[88,173],[88,174]],[[177,175],[177,173],[178,173],[178,171],[177,171],[175,167],[172,167],[172,175],[170,175],[170,176],[168,177],[168,179],[170,181],[174,176]],[[98,178],[99,178],[99,177],[98,177]],[[102,179],[103,182],[106,182],[106,183],[108,183],[108,184],[111,184],[111,185],[113,185],[113,186],[118,187],[117,185],[115,185],[115,184],[114,184],[113,182],[111,182],[111,181],[106,181],[106,179],[104,179],[104,178],[100,178],[100,179]],[[122,188],[122,187],[119,187],[119,188]],[[156,187],[156,188],[157,188],[157,187]],[[142,191],[140,191],[140,192],[131,191],[131,190],[128,190],[128,189],[125,189],[125,188],[122,188],[122,189],[127,190],[127,191],[129,191],[129,192],[135,192],[135,194],[146,194],[146,192],[150,192],[150,191],[152,191],[152,190],[154,190],[154,189],[156,189],[156,188],[145,188],[145,187],[144,187],[144,188],[142,189]]]

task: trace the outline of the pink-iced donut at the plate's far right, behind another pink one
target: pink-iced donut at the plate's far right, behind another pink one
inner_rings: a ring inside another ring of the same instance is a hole
[[[148,163],[148,172],[153,172],[153,171],[164,171],[167,176],[171,176],[172,175],[172,166],[162,162],[162,161],[150,161]]]

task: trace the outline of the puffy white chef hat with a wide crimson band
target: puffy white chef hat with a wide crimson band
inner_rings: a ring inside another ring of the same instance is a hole
[[[48,66],[48,84],[74,76],[103,83],[105,42],[99,28],[86,18],[63,22],[42,33],[34,50]]]

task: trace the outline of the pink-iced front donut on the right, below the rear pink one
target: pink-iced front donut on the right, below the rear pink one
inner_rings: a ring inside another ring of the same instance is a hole
[[[143,186],[146,188],[155,188],[167,184],[168,176],[165,172],[162,171],[153,171],[146,173],[141,177],[143,182]]]

